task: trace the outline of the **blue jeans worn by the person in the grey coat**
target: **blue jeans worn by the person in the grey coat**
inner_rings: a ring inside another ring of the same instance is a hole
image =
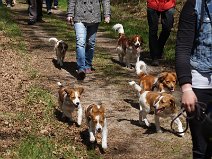
[[[96,33],[99,23],[87,24],[77,22],[74,24],[76,34],[76,60],[79,71],[92,67]]]

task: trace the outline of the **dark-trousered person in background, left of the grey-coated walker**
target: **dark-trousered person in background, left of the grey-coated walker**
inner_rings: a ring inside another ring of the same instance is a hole
[[[29,0],[29,21],[28,25],[34,25],[36,22],[43,22],[42,7],[43,0]]]

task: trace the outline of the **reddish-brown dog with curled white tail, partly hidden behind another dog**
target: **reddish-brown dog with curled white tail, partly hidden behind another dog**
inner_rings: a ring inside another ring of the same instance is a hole
[[[135,66],[136,74],[139,77],[139,84],[146,91],[152,91],[154,88],[159,92],[173,92],[177,84],[177,75],[175,72],[162,72],[157,76],[147,73],[147,65],[144,61],[137,61]]]

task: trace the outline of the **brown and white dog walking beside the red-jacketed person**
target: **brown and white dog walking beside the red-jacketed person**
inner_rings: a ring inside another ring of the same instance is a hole
[[[113,29],[119,33],[116,47],[119,62],[125,63],[127,67],[131,68],[131,64],[135,65],[137,59],[140,57],[143,39],[139,35],[134,35],[131,38],[127,37],[122,24],[115,24]]]

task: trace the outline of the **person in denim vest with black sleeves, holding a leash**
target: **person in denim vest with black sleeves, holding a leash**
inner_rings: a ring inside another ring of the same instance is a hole
[[[191,116],[197,102],[212,113],[212,0],[187,0],[179,18],[176,41],[176,73],[182,90],[182,105]],[[193,159],[211,159],[212,125],[189,120]]]

